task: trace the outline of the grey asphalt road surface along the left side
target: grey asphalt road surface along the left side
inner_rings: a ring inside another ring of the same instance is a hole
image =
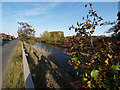
[[[6,41],[2,43],[2,76],[3,77],[9,67],[10,58],[17,47],[17,43],[18,40]]]

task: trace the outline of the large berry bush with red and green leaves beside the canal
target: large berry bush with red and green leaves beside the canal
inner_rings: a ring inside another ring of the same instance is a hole
[[[120,89],[120,42],[110,38],[92,37],[97,26],[103,26],[103,18],[93,10],[92,4],[84,22],[77,22],[69,30],[74,29],[76,36],[71,39],[68,50],[68,64],[76,70],[76,82],[71,86],[76,88],[112,88]],[[114,23],[113,23],[114,24]]]

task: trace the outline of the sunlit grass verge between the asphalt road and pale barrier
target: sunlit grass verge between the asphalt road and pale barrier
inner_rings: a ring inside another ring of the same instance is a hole
[[[2,83],[2,88],[25,88],[21,43],[11,58],[10,67]]]

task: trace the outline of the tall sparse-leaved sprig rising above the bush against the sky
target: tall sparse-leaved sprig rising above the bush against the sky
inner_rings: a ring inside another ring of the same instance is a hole
[[[88,37],[90,38],[90,43],[91,43],[91,50],[93,53],[95,53],[93,51],[93,39],[92,39],[92,34],[94,33],[94,30],[97,26],[102,26],[103,23],[101,23],[101,21],[103,20],[102,17],[98,16],[97,12],[95,10],[93,10],[92,8],[92,4],[86,4],[85,7],[90,6],[90,10],[85,17],[83,17],[84,22],[83,23],[79,23],[77,22],[77,27],[74,27],[73,25],[69,28],[69,30],[71,29],[75,29],[75,32],[77,33],[76,36],[84,36],[84,37]]]

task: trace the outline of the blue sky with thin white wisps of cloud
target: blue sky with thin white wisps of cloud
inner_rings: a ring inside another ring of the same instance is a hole
[[[18,22],[26,22],[33,26],[36,37],[44,31],[63,31],[65,36],[75,35],[69,27],[83,22],[89,7],[88,2],[2,2],[2,32],[17,37]],[[117,19],[118,2],[92,2],[103,21]],[[110,35],[104,33],[111,26],[97,27],[94,35]]]

